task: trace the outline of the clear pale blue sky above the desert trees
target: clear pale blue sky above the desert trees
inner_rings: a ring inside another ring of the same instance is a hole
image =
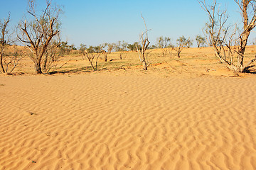
[[[0,18],[11,13],[11,26],[26,14],[27,0],[0,0]],[[208,17],[197,0],[53,0],[63,6],[61,34],[63,41],[79,47],[100,45],[103,42],[139,40],[144,30],[143,14],[151,44],[160,36],[170,37],[173,44],[181,35],[195,39],[203,35],[202,28]],[[230,20],[240,21],[238,5],[233,0],[220,1],[227,6]],[[37,8],[45,7],[45,0],[37,0]],[[194,41],[194,45],[196,42]]]

